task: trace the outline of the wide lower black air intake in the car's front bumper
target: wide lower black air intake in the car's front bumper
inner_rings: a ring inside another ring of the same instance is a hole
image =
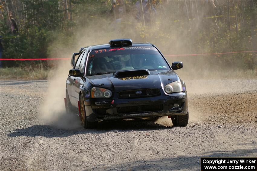
[[[161,111],[163,105],[139,105],[139,106],[126,106],[117,107],[118,113],[142,113],[142,112],[157,112]]]

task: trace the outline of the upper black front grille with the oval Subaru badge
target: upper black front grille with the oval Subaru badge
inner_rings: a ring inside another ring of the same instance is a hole
[[[128,98],[153,97],[158,95],[160,95],[160,91],[158,88],[148,88],[148,89],[120,91],[118,97],[120,99],[128,99]]]

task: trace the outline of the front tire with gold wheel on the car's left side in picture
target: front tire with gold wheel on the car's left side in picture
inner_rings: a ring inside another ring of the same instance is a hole
[[[82,95],[80,95],[80,123],[84,128],[97,128],[98,122],[88,122],[86,119],[86,110]]]

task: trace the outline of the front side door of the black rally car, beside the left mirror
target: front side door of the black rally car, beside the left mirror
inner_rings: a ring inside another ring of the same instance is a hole
[[[85,63],[86,63],[86,56],[87,56],[87,51],[85,51],[85,53],[82,56],[82,59],[80,61],[80,65],[76,68],[79,69],[80,72],[84,75],[85,73]],[[80,86],[84,84],[85,78],[83,77],[76,77],[75,79],[75,84],[74,84],[74,93],[75,93],[75,99],[76,99],[76,103],[78,103],[80,97]]]

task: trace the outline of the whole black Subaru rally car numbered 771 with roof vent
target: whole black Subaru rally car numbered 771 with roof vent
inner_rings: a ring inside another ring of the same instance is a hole
[[[188,123],[186,84],[151,43],[131,39],[87,46],[73,53],[66,81],[66,110],[84,128],[98,121],[168,116],[174,126]]]

